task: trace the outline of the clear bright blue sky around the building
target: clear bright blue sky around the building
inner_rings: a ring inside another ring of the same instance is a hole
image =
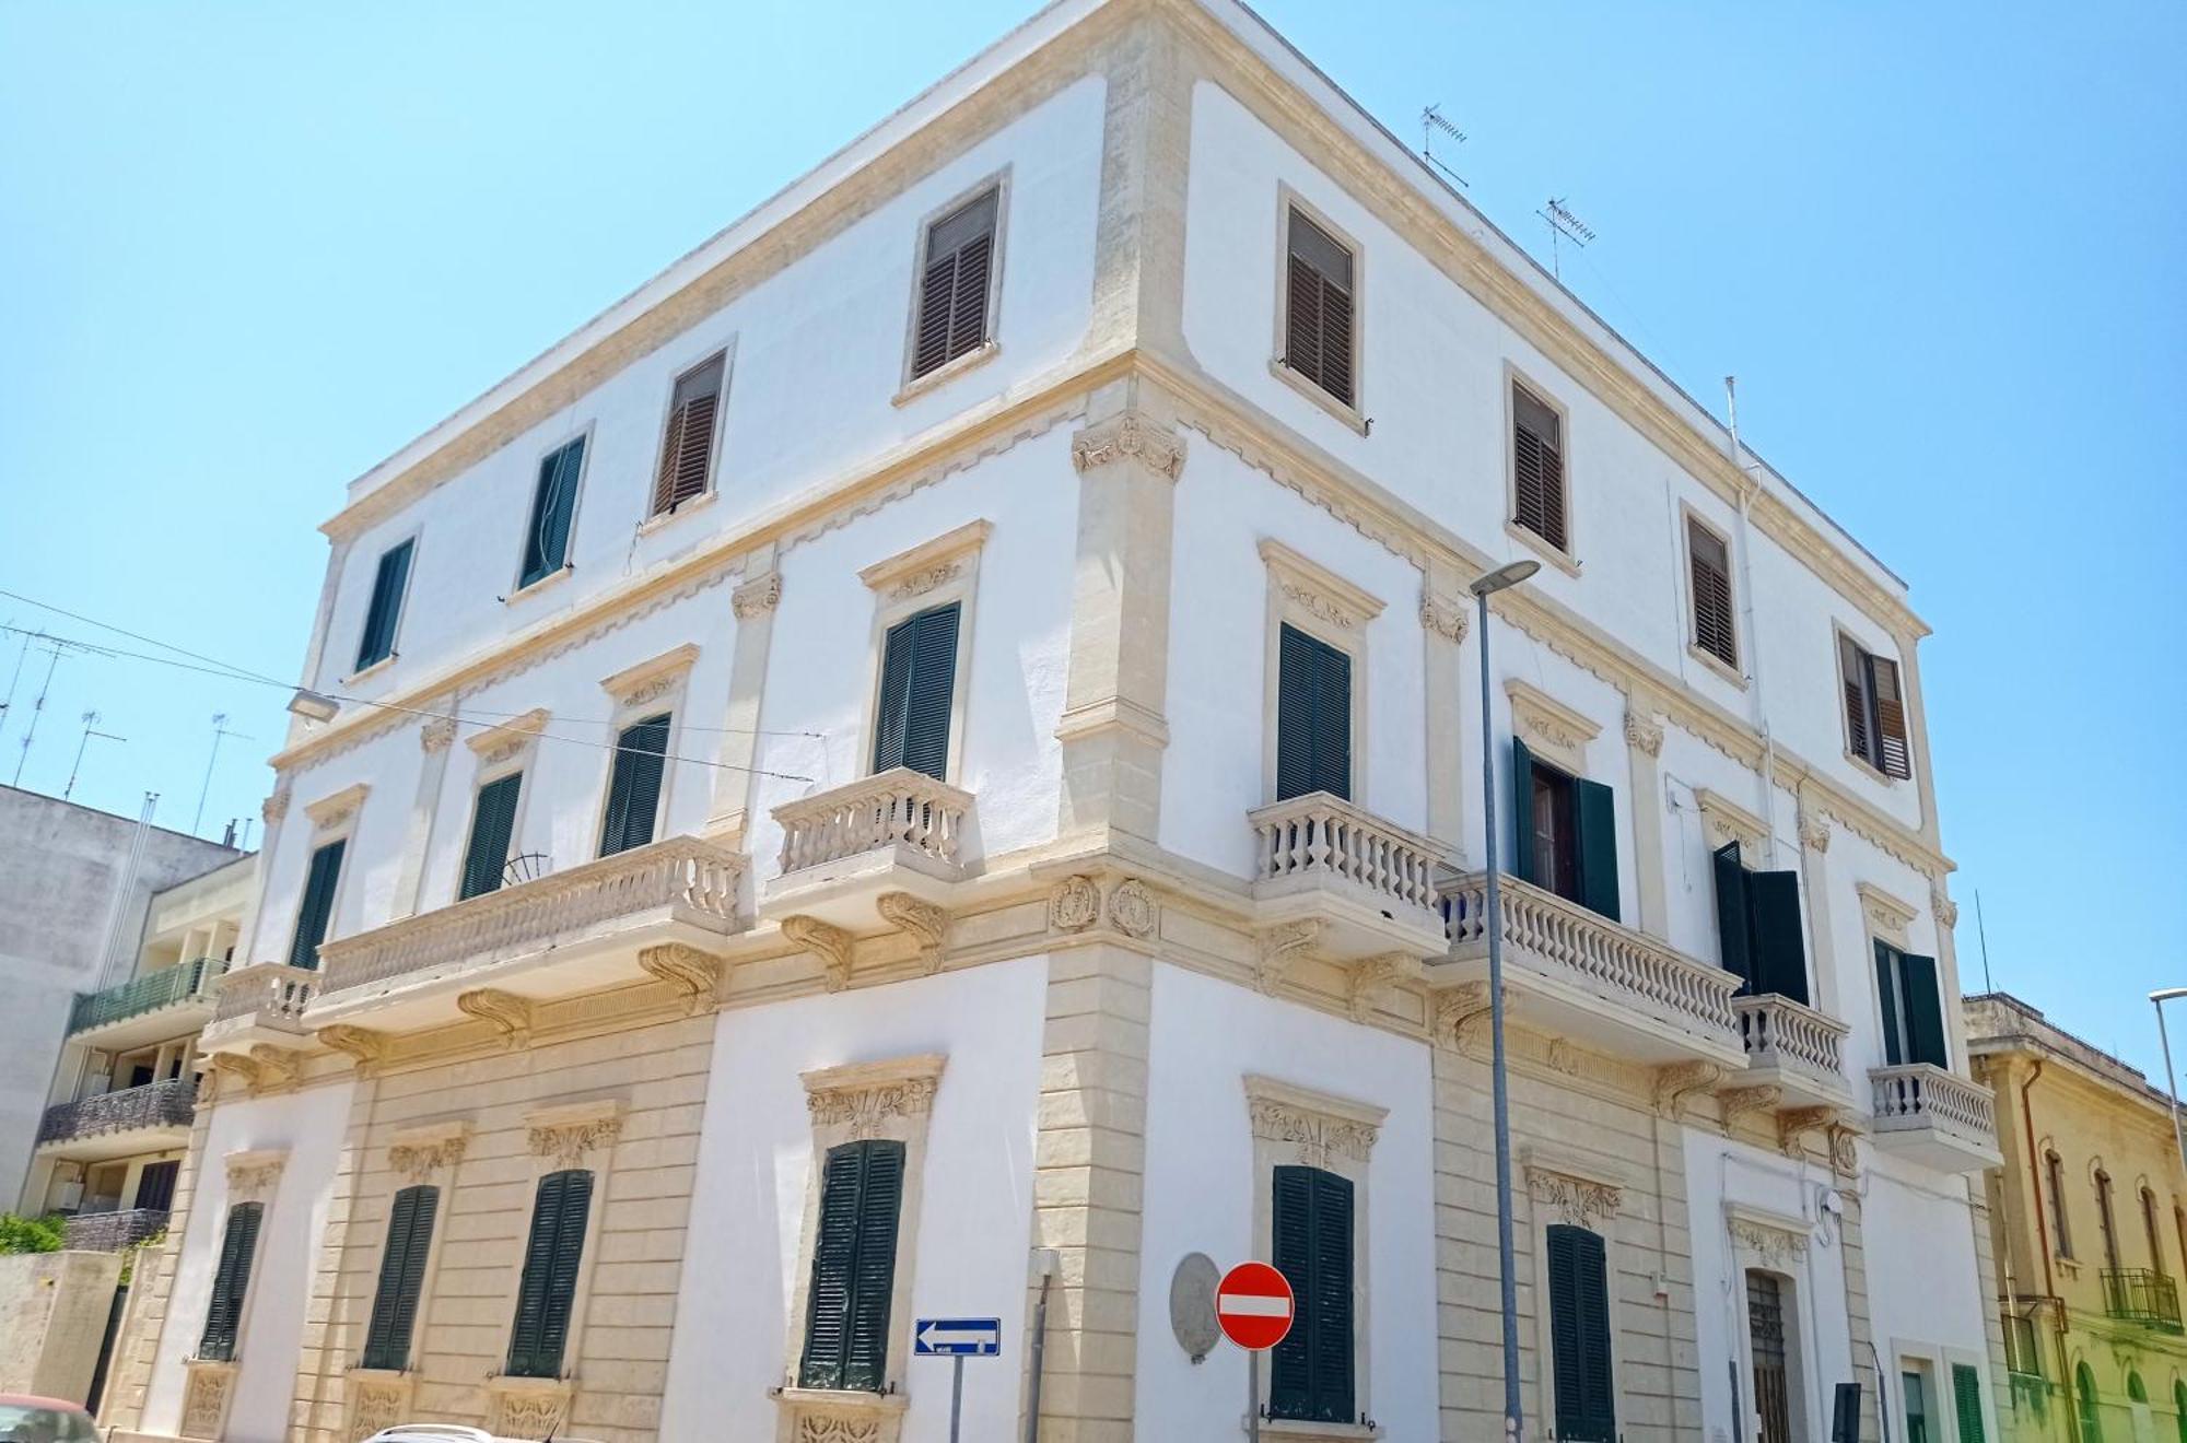
[[[0,0],[0,586],[295,678],[341,485],[1026,13]],[[2187,982],[2187,7],[1264,13],[1901,571],[1960,958],[2154,1069]],[[0,623],[98,641],[0,597]],[[105,636],[129,647],[131,643]],[[0,687],[20,641],[0,634]],[[46,658],[0,724],[20,756]],[[74,656],[24,785],[256,816],[282,693]],[[2180,1019],[2187,1023],[2187,1014]]]

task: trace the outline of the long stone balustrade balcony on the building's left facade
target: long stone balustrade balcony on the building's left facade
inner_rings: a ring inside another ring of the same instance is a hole
[[[420,912],[319,947],[311,1028],[429,1028],[481,1017],[459,995],[490,988],[510,1017],[652,973],[639,953],[720,953],[741,931],[744,857],[698,837],[667,837]]]

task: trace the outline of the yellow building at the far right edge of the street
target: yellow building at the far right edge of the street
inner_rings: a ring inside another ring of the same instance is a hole
[[[2005,993],[1966,999],[2005,1165],[1990,1233],[2012,1436],[2187,1443],[2187,1172],[2170,1098]]]

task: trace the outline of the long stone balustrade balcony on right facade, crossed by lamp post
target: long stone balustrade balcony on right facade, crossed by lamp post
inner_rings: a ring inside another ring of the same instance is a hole
[[[1739,977],[1579,903],[1500,879],[1505,988],[1529,1025],[1647,1065],[1708,1063],[1745,1069],[1732,1014]],[[1487,879],[1443,883],[1450,962],[1432,986],[1487,982]]]

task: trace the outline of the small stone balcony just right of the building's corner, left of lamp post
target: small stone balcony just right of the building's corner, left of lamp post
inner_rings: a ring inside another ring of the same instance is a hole
[[[1253,826],[1253,901],[1262,925],[1312,923],[1330,960],[1443,955],[1435,896],[1441,848],[1330,791],[1244,818]]]

